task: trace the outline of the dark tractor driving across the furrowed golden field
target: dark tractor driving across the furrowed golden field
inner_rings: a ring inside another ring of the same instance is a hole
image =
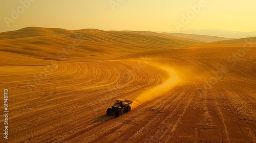
[[[114,105],[111,108],[106,110],[106,115],[115,115],[115,117],[119,117],[124,113],[128,113],[131,111],[132,100],[124,100],[124,99],[117,99],[114,100]]]

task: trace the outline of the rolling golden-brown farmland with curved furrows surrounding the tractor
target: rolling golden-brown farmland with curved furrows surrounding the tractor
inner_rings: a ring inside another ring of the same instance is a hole
[[[0,33],[8,141],[256,142],[255,45],[142,31]],[[132,111],[106,116],[119,98]]]

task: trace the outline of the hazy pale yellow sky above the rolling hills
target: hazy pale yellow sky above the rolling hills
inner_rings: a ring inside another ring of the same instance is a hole
[[[255,8],[255,0],[2,0],[0,32],[30,26],[249,32],[256,31]]]

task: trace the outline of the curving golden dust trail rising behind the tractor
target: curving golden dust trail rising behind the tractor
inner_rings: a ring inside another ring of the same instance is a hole
[[[152,63],[151,63],[152,64]],[[179,77],[176,72],[167,65],[160,64],[152,64],[157,68],[163,69],[168,73],[168,79],[165,80],[162,84],[152,87],[152,89],[148,89],[142,92],[133,102],[132,108],[136,108],[139,105],[154,100],[160,96],[162,96],[165,92],[172,89],[174,85],[179,82]]]

